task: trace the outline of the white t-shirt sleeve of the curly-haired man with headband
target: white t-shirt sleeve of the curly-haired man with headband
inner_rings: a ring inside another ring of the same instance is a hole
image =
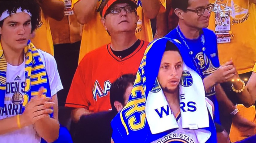
[[[57,94],[58,91],[63,89],[56,60],[51,54],[42,50],[38,50],[38,53],[40,54],[41,59],[46,67],[46,72],[50,82],[51,94],[53,96]]]

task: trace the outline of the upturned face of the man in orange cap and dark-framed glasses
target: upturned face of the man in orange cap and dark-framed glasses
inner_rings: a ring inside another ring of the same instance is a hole
[[[115,13],[120,8],[121,12]],[[108,9],[106,17],[102,18],[102,24],[111,35],[111,33],[135,32],[138,20],[139,16],[137,16],[135,9],[132,8],[131,5],[127,3],[117,3]]]

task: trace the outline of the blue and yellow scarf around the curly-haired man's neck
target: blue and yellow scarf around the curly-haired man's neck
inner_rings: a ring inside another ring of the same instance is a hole
[[[44,96],[51,97],[51,89],[46,73],[46,68],[36,49],[36,47],[28,41],[28,45],[24,49],[25,53],[25,77],[26,87],[23,96],[23,109],[30,101],[31,97],[38,95],[41,87],[44,87]],[[7,61],[0,43],[0,108],[4,107],[5,88],[6,88]]]

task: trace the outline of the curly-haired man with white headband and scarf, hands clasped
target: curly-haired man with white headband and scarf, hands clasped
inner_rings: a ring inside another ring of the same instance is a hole
[[[54,142],[59,137],[54,57],[37,50],[31,33],[41,16],[37,0],[0,1],[0,140]]]

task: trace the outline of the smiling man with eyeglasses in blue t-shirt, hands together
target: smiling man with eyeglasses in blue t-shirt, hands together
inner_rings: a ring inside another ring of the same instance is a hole
[[[177,39],[186,47],[185,51],[203,79],[206,96],[214,103],[215,122],[220,124],[218,102],[225,114],[240,120],[237,109],[220,86],[237,75],[236,69],[232,60],[220,66],[215,33],[206,29],[214,5],[208,0],[172,0],[172,6],[179,17],[179,25],[166,37]]]

